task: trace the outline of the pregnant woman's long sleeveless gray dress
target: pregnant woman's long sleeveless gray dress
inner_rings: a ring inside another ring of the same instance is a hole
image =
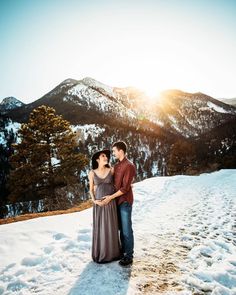
[[[105,178],[100,178],[94,172],[94,184],[97,186],[96,200],[115,192],[111,170]],[[95,262],[105,263],[120,258],[121,244],[118,230],[115,199],[105,206],[94,204],[92,258]]]

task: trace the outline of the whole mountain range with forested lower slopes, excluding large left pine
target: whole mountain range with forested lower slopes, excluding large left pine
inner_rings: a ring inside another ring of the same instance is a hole
[[[17,130],[40,105],[55,108],[68,120],[78,141],[78,150],[91,158],[93,152],[125,140],[128,158],[136,165],[136,181],[153,176],[199,174],[236,168],[236,108],[203,93],[168,90],[150,99],[134,87],[110,87],[92,78],[67,79],[40,99],[0,114],[0,216],[9,206],[6,183],[17,142]],[[47,118],[45,118],[47,120]],[[112,165],[114,164],[112,159]],[[88,171],[80,172],[83,200],[88,198]],[[73,191],[68,194],[74,195]],[[74,198],[76,202],[76,198]],[[22,206],[14,204],[16,212]],[[40,204],[43,201],[40,200]],[[76,205],[73,203],[72,205]],[[62,208],[61,204],[58,205]],[[55,209],[55,208],[54,208]],[[54,210],[50,209],[49,210]]]

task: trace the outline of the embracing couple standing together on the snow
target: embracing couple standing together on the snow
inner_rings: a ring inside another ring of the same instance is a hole
[[[118,260],[121,266],[133,262],[132,181],[136,169],[126,157],[123,141],[112,145],[118,163],[110,167],[110,151],[92,156],[89,172],[90,195],[93,200],[92,258],[97,263]]]

